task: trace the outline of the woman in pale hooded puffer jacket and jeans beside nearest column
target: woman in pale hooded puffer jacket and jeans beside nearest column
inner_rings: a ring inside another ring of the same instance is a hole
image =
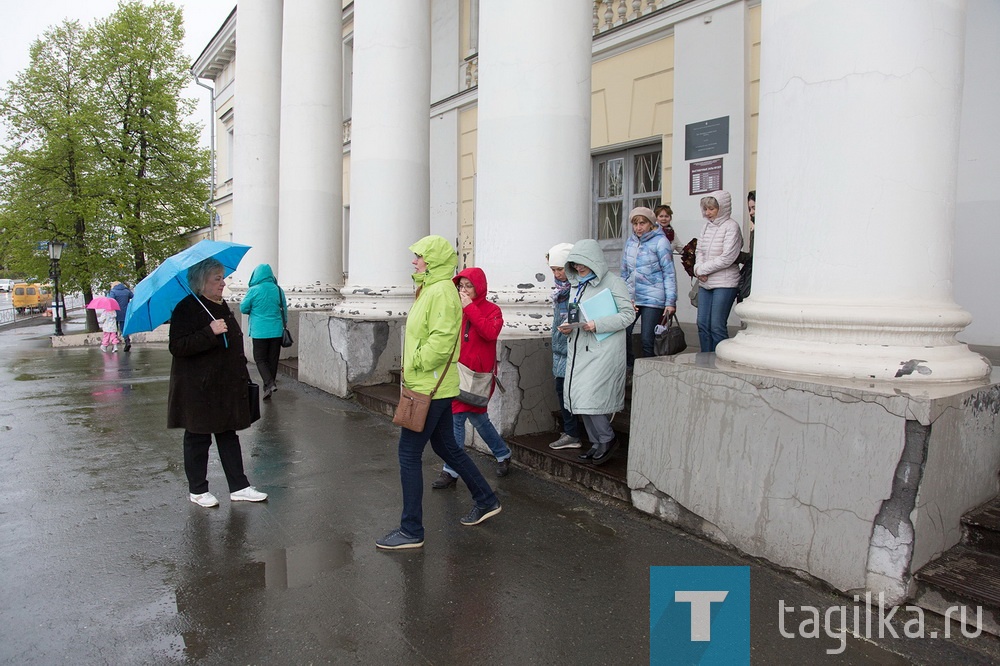
[[[736,263],[743,249],[739,223],[730,217],[733,210],[729,192],[718,190],[701,200],[705,226],[698,238],[694,274],[698,289],[698,340],[703,352],[729,337],[726,324],[736,301],[740,267]]]

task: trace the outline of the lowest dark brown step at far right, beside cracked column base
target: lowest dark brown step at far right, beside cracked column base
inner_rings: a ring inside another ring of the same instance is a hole
[[[963,619],[956,609],[964,606],[967,633],[982,629],[1000,635],[1000,555],[958,545],[914,578],[914,601],[919,606],[956,623]],[[952,630],[958,628],[956,624]]]

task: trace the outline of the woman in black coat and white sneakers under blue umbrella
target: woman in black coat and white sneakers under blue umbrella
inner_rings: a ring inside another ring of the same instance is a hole
[[[267,499],[247,480],[237,430],[250,427],[247,359],[239,322],[222,299],[223,264],[214,258],[187,269],[191,293],[170,316],[170,389],[167,427],[184,428],[184,472],[190,499],[219,505],[208,492],[208,451],[212,435],[233,502]]]

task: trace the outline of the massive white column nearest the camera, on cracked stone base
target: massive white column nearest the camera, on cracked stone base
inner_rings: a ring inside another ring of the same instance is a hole
[[[964,23],[962,0],[764,3],[753,293],[724,364],[989,373],[952,299]]]

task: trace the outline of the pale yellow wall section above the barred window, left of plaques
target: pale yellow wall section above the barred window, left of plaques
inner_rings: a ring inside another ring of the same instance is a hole
[[[664,37],[606,60],[591,72],[590,148],[660,137],[663,201],[671,200],[674,122],[674,39]]]

